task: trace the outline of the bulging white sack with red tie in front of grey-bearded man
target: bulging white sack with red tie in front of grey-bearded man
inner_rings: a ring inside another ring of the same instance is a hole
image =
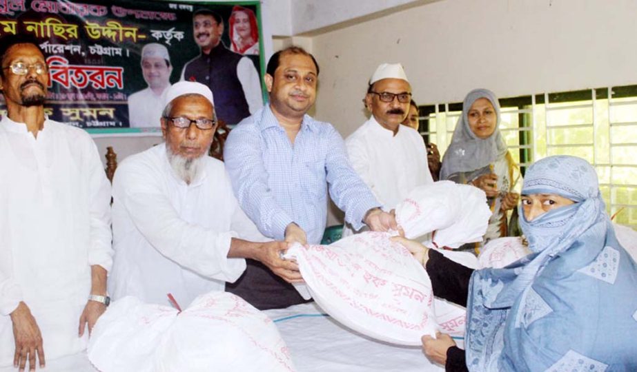
[[[88,358],[101,372],[295,371],[272,320],[216,291],[181,313],[134,297],[114,302],[92,330]]]

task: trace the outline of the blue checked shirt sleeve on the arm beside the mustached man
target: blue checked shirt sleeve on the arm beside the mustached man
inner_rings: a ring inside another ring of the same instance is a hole
[[[380,207],[380,203],[351,167],[343,138],[331,125],[326,141],[329,149],[326,152],[325,167],[330,196],[345,212],[345,220],[358,230],[364,225],[362,220],[366,212]]]

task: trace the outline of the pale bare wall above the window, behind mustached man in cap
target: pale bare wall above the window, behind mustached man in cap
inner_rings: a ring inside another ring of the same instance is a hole
[[[637,1],[443,0],[312,38],[316,116],[343,136],[382,62],[401,62],[420,103],[637,83]]]

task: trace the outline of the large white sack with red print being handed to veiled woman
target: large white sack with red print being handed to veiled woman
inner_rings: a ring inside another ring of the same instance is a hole
[[[316,302],[346,327],[392,344],[421,344],[434,335],[433,293],[424,267],[390,234],[364,232],[326,245],[295,244]]]

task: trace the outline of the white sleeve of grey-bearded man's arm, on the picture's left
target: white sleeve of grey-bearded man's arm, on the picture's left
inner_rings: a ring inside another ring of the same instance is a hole
[[[206,278],[237,280],[246,262],[227,258],[237,234],[187,223],[159,187],[161,182],[148,167],[120,167],[113,180],[113,203],[124,206],[141,235],[166,258]]]

